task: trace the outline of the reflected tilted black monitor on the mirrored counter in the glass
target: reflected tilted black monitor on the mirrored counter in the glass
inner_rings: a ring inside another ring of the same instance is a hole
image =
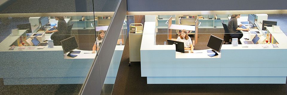
[[[79,47],[77,44],[77,40],[76,40],[75,36],[72,36],[72,37],[69,37],[67,39],[62,40],[61,44],[62,44],[62,48],[63,48],[64,53],[70,52],[70,53],[68,53],[67,56],[72,57],[72,58],[77,56],[77,55],[71,54],[74,49]]]

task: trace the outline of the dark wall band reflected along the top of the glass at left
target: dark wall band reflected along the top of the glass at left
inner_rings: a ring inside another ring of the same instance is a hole
[[[93,0],[10,0],[0,13],[93,12]],[[95,12],[115,12],[120,0],[94,0]]]

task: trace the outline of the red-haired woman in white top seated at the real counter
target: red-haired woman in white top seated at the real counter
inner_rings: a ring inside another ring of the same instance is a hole
[[[184,42],[184,50],[190,50],[193,53],[193,44],[190,37],[188,37],[187,31],[185,29],[181,30],[180,36],[176,39],[179,42]]]

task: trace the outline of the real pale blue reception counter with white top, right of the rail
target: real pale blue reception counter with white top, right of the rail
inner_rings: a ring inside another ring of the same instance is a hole
[[[148,84],[286,83],[286,36],[274,36],[278,47],[222,45],[219,55],[210,57],[206,50],[178,53],[175,45],[156,45],[155,22],[144,26],[141,77],[147,77]]]

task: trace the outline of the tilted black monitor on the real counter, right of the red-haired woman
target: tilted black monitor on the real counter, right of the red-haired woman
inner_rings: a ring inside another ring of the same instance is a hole
[[[213,56],[217,56],[218,53],[220,52],[221,46],[223,43],[223,39],[220,39],[219,37],[210,35],[208,43],[207,43],[207,47],[211,48],[212,52],[214,52],[213,54],[208,54],[208,56],[213,57]]]

